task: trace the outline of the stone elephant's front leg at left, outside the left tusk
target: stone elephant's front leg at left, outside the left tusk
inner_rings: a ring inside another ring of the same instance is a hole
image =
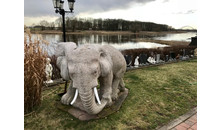
[[[67,92],[61,98],[61,103],[65,105],[69,105],[75,95],[76,89],[72,88],[72,84],[73,84],[72,81],[70,81]]]

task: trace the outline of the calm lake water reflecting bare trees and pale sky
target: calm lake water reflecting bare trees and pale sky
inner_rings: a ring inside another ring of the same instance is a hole
[[[96,35],[96,34],[66,34],[67,42],[75,42],[77,46],[83,44],[110,44],[118,50],[136,49],[136,48],[156,48],[165,47],[168,45],[153,43],[153,42],[136,42],[134,39],[155,39],[155,40],[175,40],[175,41],[191,41],[191,37],[196,36],[197,32],[166,34],[163,36],[148,36],[148,35]],[[53,55],[57,43],[63,42],[62,34],[41,34],[44,40],[50,42],[48,54]],[[32,39],[36,38],[37,34],[32,34]]]

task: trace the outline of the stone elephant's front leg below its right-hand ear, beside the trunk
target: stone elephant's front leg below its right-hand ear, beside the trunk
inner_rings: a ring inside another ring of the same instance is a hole
[[[112,72],[105,76],[105,77],[99,77],[99,82],[100,82],[100,94],[99,98],[102,100],[102,98],[105,98],[108,100],[108,103],[106,106],[111,106],[112,105],[112,79],[113,79],[113,74]]]

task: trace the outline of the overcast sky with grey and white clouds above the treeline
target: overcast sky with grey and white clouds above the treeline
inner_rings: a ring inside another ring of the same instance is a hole
[[[197,0],[75,0],[74,13],[66,17],[116,18],[167,24],[176,29],[197,29]],[[69,10],[67,0],[64,9]],[[24,0],[24,24],[36,25],[41,20],[54,22],[52,0]]]

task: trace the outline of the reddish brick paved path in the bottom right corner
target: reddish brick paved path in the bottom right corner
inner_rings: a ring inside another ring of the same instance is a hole
[[[197,107],[156,130],[197,130]]]

